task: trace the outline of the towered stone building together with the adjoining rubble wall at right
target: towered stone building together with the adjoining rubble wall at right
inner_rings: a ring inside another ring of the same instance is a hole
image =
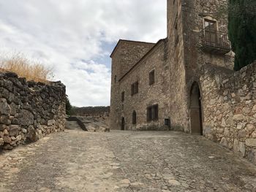
[[[256,163],[256,66],[233,72],[225,4],[167,0],[167,38],[119,40],[110,128],[201,134]]]

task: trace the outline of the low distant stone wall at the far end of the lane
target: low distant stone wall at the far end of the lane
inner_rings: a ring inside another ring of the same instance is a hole
[[[110,107],[72,107],[75,116],[108,116]]]

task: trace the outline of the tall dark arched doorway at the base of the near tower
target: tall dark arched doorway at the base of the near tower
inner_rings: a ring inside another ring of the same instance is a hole
[[[203,135],[201,94],[197,82],[190,90],[189,113],[191,133]]]

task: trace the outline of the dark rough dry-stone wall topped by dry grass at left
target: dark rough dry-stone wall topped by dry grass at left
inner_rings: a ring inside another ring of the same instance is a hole
[[[65,86],[27,82],[0,73],[0,148],[11,150],[52,132],[64,131]]]

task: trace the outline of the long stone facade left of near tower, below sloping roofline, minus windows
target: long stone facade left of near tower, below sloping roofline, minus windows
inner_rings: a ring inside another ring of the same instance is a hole
[[[116,99],[111,101],[110,128],[121,129],[121,118],[125,120],[126,130],[159,130],[164,126],[165,118],[170,118],[170,68],[165,61],[167,40],[160,40],[155,47],[118,83]],[[149,73],[154,70],[155,83],[149,85]],[[131,85],[138,81],[138,93],[131,95]],[[121,93],[124,92],[124,101]],[[159,118],[147,121],[147,107],[158,104]],[[116,108],[114,108],[116,107]],[[132,124],[132,112],[136,112],[137,122]]]

